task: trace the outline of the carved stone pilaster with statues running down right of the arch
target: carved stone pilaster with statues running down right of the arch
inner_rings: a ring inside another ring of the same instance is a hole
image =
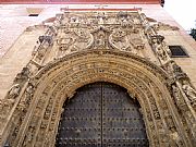
[[[181,117],[185,118],[186,120],[186,122],[183,124],[184,127],[186,127],[186,130],[189,130],[188,132],[186,131],[186,133],[189,136],[195,137],[195,132],[196,132],[195,131],[195,122],[196,122],[195,105],[194,102],[191,102],[191,101],[194,101],[195,89],[191,86],[191,84],[184,85],[183,81],[185,81],[185,83],[189,83],[189,79],[187,75],[182,71],[182,69],[174,61],[170,59],[171,52],[168,50],[168,47],[163,42],[164,38],[158,35],[157,30],[159,29],[155,29],[152,26],[150,26],[145,15],[142,15],[142,20],[143,20],[143,24],[147,28],[145,30],[145,34],[148,37],[149,45],[155,49],[154,50],[155,54],[157,54],[157,57],[159,58],[160,64],[170,75],[169,85],[172,86],[172,93],[173,93],[175,105],[179,108],[179,111],[182,113]],[[184,85],[184,88],[183,88],[183,85]],[[189,93],[187,94],[188,88],[189,88],[188,90]],[[176,145],[180,146],[179,143],[176,143]]]

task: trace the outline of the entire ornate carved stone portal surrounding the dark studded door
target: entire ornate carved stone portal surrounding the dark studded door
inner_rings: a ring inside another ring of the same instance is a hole
[[[138,11],[58,14],[0,101],[0,146],[53,147],[63,102],[110,82],[138,100],[150,146],[193,147],[196,90],[163,39]]]

